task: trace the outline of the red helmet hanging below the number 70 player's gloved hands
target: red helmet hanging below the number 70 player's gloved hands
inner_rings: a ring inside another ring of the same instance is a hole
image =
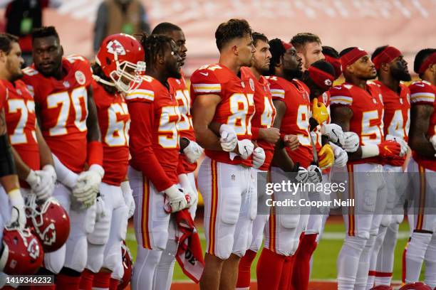
[[[26,203],[27,226],[41,240],[44,252],[53,252],[66,243],[70,234],[70,218],[56,198],[36,203],[32,195]]]

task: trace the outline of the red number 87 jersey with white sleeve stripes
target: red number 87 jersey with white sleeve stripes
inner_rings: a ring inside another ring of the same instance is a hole
[[[219,95],[212,122],[228,124],[236,131],[238,139],[251,139],[251,118],[254,115],[254,81],[241,80],[224,65],[204,65],[191,76],[191,96]],[[195,100],[194,100],[195,102]],[[239,156],[231,160],[229,152],[204,150],[211,159],[229,164],[251,166],[251,158],[242,160]]]

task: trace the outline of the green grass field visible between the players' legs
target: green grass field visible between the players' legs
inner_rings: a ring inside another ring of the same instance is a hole
[[[335,218],[335,220],[338,220]],[[206,240],[204,239],[204,232],[202,228],[198,228],[200,239],[202,240],[203,250],[206,245]],[[408,241],[409,225],[408,222],[403,222],[400,225],[398,243],[395,248],[395,266],[393,280],[401,280],[401,264],[403,249]],[[319,243],[313,257],[313,272],[311,274],[311,279],[336,279],[336,257],[341,250],[343,237],[345,237],[345,228],[343,223],[340,222],[327,222],[326,230],[324,232],[323,238]],[[127,244],[130,247],[133,259],[136,257],[137,243],[135,240],[135,233],[132,227],[128,229]],[[256,279],[256,262],[259,259],[259,254],[257,255],[255,262],[251,267],[251,278]],[[177,280],[189,280],[182,270],[176,263],[173,281]]]

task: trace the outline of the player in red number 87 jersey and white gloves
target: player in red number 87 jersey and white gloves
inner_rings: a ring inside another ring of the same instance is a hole
[[[234,289],[239,259],[249,247],[256,217],[251,154],[259,166],[265,155],[263,149],[254,151],[251,142],[254,80],[239,77],[256,50],[249,23],[240,19],[221,23],[215,39],[219,62],[204,65],[191,76],[192,121],[207,156],[198,176],[207,240],[200,287]]]

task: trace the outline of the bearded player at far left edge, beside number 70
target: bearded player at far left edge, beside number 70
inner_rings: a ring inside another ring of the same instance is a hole
[[[56,181],[51,151],[36,124],[33,97],[21,81],[23,60],[18,38],[8,34],[1,34],[0,38],[5,49],[1,51],[6,56],[6,66],[0,77],[6,89],[4,114],[21,191],[26,195],[32,192],[43,201],[53,194]]]

